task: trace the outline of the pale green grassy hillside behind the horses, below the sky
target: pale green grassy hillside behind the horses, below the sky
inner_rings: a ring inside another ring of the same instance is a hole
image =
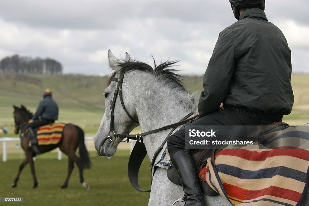
[[[289,124],[309,122],[308,78],[309,74],[292,76],[295,104],[292,114],[284,117]],[[35,112],[44,89],[49,87],[59,104],[59,121],[77,124],[85,130],[86,135],[92,136],[104,114],[102,93],[107,80],[108,77],[82,75],[0,74],[0,127],[8,127],[11,133],[14,126],[12,105],[23,104]],[[202,77],[184,77],[184,84],[190,92],[201,91]]]

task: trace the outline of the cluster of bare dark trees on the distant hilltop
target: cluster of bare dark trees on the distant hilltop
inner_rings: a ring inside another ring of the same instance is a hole
[[[18,54],[0,61],[0,73],[62,74],[62,65],[53,59],[20,57]]]

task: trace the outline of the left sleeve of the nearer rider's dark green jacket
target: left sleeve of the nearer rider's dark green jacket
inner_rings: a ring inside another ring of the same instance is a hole
[[[236,56],[235,37],[225,29],[219,34],[204,74],[204,91],[201,92],[198,103],[201,116],[218,111],[220,104],[229,94]]]

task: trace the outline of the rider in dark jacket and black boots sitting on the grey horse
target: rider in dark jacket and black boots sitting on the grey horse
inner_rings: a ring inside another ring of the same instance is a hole
[[[239,21],[219,34],[204,75],[198,104],[201,118],[191,125],[281,121],[282,115],[290,114],[294,102],[291,52],[286,39],[268,22],[265,0],[230,2]],[[180,129],[168,139],[168,151],[187,193],[185,205],[205,205],[192,159],[185,150],[184,131]]]

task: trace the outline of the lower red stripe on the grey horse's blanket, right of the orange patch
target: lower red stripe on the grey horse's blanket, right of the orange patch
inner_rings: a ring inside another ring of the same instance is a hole
[[[228,194],[228,193],[227,193]],[[252,200],[264,195],[271,195],[274,197],[283,198],[286,200],[292,200],[298,202],[302,194],[293,190],[284,189],[281,187],[270,186],[262,190],[248,190],[245,197],[246,200]]]

